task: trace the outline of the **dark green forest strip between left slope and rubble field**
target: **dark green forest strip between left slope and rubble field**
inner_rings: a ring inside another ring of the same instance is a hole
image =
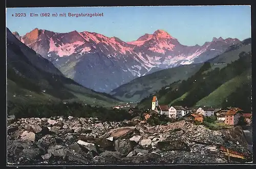
[[[92,106],[77,102],[66,104],[62,102],[44,104],[17,104],[9,102],[7,114],[15,115],[16,118],[50,118],[54,116],[97,117],[99,120],[103,121],[122,121],[124,119],[131,120],[133,118],[126,110],[108,109],[101,106]]]

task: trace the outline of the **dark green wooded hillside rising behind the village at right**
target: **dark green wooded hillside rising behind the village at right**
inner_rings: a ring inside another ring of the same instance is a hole
[[[237,49],[236,49],[237,50]],[[238,60],[227,63],[222,68],[215,67],[210,62],[204,63],[200,70],[187,80],[176,81],[161,89],[155,95],[159,104],[182,106],[240,106],[250,109],[250,68],[251,52],[240,52]],[[166,88],[165,87],[165,88]],[[246,91],[247,90],[247,91]],[[239,93],[240,92],[240,93]],[[243,95],[243,102],[239,95]],[[246,94],[243,94],[246,93]],[[233,97],[230,97],[233,95]],[[153,95],[143,99],[138,106],[150,108]],[[234,105],[237,103],[237,105]],[[241,103],[241,104],[238,104]]]

